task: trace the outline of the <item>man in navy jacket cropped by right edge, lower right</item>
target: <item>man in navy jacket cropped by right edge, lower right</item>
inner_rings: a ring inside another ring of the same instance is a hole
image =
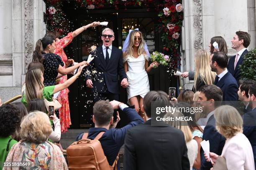
[[[243,116],[243,134],[251,143],[256,168],[256,83],[251,85],[248,96],[252,110]]]

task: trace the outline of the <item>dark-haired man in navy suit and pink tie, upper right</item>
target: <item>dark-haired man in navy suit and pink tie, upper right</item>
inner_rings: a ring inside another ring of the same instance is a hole
[[[231,48],[236,50],[236,55],[230,57],[228,61],[228,71],[235,77],[236,81],[240,80],[240,67],[243,63],[243,55],[248,53],[246,48],[250,45],[251,36],[247,32],[237,31],[231,40]]]

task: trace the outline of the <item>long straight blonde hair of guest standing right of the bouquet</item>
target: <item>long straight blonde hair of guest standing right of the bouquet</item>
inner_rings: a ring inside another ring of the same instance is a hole
[[[195,77],[194,77],[194,88],[195,91],[197,86],[197,79],[200,79],[206,85],[213,85],[216,73],[212,72],[210,67],[210,53],[206,50],[198,50],[195,54]]]

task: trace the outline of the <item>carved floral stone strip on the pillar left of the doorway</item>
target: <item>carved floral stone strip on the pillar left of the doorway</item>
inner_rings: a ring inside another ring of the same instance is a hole
[[[32,60],[33,53],[33,0],[24,0],[25,5],[25,69]]]

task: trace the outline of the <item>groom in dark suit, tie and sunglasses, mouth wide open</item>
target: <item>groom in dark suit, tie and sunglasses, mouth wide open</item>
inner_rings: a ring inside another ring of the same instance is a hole
[[[128,79],[123,68],[123,53],[118,48],[112,46],[115,40],[114,32],[110,28],[102,31],[101,47],[97,47],[92,52],[94,59],[90,62],[86,75],[86,85],[92,88],[94,102],[99,100],[119,100],[118,75],[120,76],[121,86],[128,86]]]

